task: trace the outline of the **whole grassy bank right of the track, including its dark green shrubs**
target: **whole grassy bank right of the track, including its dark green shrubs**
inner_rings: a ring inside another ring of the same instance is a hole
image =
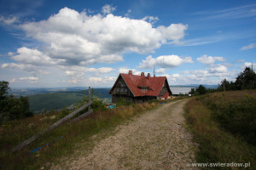
[[[255,99],[254,90],[208,94],[189,100],[185,105],[185,117],[189,129],[194,133],[195,142],[199,144],[197,162],[250,162],[251,167],[247,169],[256,169],[256,147],[253,143]]]

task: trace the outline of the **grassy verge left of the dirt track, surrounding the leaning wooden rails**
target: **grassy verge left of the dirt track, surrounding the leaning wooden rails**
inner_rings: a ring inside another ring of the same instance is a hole
[[[0,127],[0,169],[38,169],[42,165],[47,166],[49,165],[47,162],[73,153],[80,142],[90,140],[91,136],[102,129],[114,128],[132,116],[155,108],[156,105],[153,102],[151,104],[122,106],[108,111],[96,111],[80,122],[62,124],[15,153],[11,153],[10,150],[16,144],[20,144],[33,134],[56,122],[57,119],[61,118],[61,113],[49,113],[48,115],[6,122],[6,125],[10,126]],[[92,146],[91,143],[88,144]],[[44,147],[30,153],[40,146]]]

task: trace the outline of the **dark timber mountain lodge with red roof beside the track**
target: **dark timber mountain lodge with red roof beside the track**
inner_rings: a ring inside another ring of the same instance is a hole
[[[132,71],[129,71],[128,74],[119,74],[109,94],[112,95],[113,103],[116,103],[119,98],[143,103],[151,99],[167,99],[172,91],[166,77],[150,77],[149,73],[145,77],[144,72],[141,73],[141,76],[137,76],[132,75]]]

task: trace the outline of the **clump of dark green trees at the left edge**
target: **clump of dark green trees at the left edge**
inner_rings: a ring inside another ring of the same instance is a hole
[[[33,116],[29,111],[29,100],[27,97],[20,96],[15,98],[14,95],[8,94],[9,82],[0,82],[0,123],[9,120],[20,119]]]

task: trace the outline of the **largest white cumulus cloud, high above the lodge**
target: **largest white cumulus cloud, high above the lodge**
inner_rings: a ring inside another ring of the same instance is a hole
[[[178,43],[188,26],[171,24],[154,28],[145,20],[113,14],[87,15],[61,8],[48,20],[27,22],[20,28],[27,37],[44,42],[45,56],[61,59],[68,65],[92,65],[122,61],[125,52],[147,54],[165,42]]]

